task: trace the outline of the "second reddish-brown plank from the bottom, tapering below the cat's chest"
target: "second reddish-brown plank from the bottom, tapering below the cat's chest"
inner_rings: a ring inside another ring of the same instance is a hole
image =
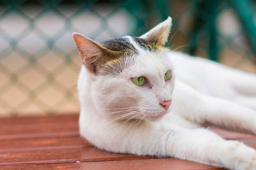
[[[97,148],[65,148],[58,150],[37,150],[24,152],[0,153],[0,166],[20,164],[52,164],[52,163],[74,163],[106,161],[106,160],[129,160],[148,159],[138,155],[109,153]]]

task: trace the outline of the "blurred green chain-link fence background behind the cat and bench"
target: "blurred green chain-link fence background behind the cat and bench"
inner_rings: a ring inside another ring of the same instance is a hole
[[[0,117],[79,113],[72,32],[140,36],[173,18],[168,46],[256,73],[249,0],[0,1]],[[256,85],[255,85],[256,86]]]

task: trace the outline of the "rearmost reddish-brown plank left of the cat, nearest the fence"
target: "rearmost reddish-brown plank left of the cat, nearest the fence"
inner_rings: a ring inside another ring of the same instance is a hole
[[[79,136],[78,115],[0,119],[0,141]]]

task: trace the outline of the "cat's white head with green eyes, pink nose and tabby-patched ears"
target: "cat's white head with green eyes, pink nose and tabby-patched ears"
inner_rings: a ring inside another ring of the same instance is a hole
[[[164,47],[171,26],[168,17],[140,37],[102,43],[74,33],[86,73],[79,82],[89,81],[88,87],[78,88],[80,99],[89,97],[94,108],[111,120],[163,117],[172,103],[174,87],[173,66]],[[81,94],[82,88],[89,88],[89,94]]]

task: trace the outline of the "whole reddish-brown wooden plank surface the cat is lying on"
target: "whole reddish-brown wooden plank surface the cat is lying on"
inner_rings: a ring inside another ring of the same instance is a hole
[[[77,122],[77,115],[0,118],[0,169],[221,169],[104,152],[79,137]],[[256,136],[217,132],[256,148]]]

